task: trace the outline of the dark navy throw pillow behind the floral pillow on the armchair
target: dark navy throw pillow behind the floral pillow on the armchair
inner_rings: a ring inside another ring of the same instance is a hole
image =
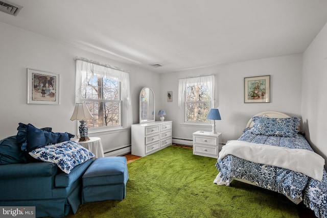
[[[38,129],[32,124],[26,125],[19,123],[17,130],[17,142],[20,144],[21,151],[23,151],[21,156],[25,161],[29,159],[26,157],[29,156],[28,153],[39,147],[69,141],[71,138],[75,137],[75,135],[67,132],[51,132],[51,128]]]

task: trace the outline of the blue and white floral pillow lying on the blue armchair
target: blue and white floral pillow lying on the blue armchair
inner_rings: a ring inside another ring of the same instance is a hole
[[[29,153],[37,160],[55,163],[66,174],[95,155],[75,141],[64,141],[37,148]]]

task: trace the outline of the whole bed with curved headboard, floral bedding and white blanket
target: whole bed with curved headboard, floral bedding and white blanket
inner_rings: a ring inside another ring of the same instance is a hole
[[[303,203],[317,217],[327,217],[327,174],[324,159],[299,131],[300,119],[276,111],[255,114],[238,140],[219,152],[214,183],[233,180],[282,193]]]

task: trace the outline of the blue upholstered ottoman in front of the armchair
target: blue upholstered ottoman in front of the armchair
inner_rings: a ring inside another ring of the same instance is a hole
[[[126,157],[100,157],[88,167],[83,177],[83,203],[123,200],[128,180]]]

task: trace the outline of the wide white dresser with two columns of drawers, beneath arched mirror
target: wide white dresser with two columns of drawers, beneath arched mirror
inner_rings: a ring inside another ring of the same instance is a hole
[[[144,157],[172,144],[172,121],[132,125],[132,155]]]

